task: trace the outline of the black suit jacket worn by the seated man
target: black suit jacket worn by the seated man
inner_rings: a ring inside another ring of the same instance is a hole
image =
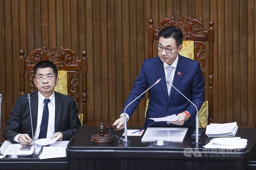
[[[38,112],[38,91],[31,92],[31,114],[33,133],[35,134]],[[72,97],[55,92],[55,132],[63,134],[63,140],[70,140],[81,126],[75,101]],[[32,138],[31,120],[29,113],[28,95],[18,97],[9,121],[5,125],[4,139],[13,142],[19,133],[27,133]]]

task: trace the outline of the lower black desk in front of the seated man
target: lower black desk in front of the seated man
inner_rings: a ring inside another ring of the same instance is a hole
[[[39,159],[39,155],[0,159],[0,169],[68,169],[68,158]]]

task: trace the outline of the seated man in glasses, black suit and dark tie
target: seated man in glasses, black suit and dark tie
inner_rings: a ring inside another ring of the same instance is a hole
[[[72,97],[54,92],[58,84],[57,67],[50,61],[41,61],[34,67],[34,82],[38,91],[31,92],[31,114],[35,140],[55,138],[70,140],[81,126]],[[4,139],[30,144],[32,129],[28,95],[18,97],[4,130]]]

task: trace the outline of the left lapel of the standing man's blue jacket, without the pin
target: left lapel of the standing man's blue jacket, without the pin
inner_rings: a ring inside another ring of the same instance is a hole
[[[164,73],[164,63],[161,61],[161,59],[158,57],[159,60],[157,60],[156,65],[154,67],[154,70],[156,72],[157,78],[162,78],[162,81],[160,81],[160,85],[164,91],[164,95],[166,99],[168,100],[168,91],[167,91],[167,85],[166,85],[166,79],[165,79],[165,73]]]

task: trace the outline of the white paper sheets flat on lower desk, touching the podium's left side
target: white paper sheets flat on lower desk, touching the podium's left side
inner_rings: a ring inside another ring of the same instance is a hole
[[[66,157],[66,148],[64,147],[44,147],[39,156],[40,159]]]

